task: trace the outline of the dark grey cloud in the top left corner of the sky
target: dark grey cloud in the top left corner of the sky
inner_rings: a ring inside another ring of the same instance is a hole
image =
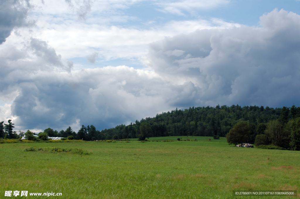
[[[29,0],[0,0],[0,45],[14,27],[28,24]]]

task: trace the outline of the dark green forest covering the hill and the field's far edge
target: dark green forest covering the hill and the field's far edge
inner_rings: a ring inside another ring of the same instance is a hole
[[[190,107],[184,110],[172,110],[156,114],[155,117],[147,117],[136,120],[129,125],[118,125],[114,128],[96,130],[94,125],[88,125],[80,128],[78,132],[68,127],[66,130],[53,130],[47,128],[44,133],[50,137],[73,136],[74,139],[83,140],[105,140],[105,139],[128,139],[137,138],[141,135],[141,128],[145,134],[144,137],[159,136],[226,136],[229,130],[239,121],[247,121],[250,126],[251,136],[247,140],[254,143],[255,136],[262,134],[265,130],[265,124],[269,121],[283,119],[285,123],[292,118],[300,117],[300,107],[291,108],[270,108],[258,106],[226,105],[216,107]],[[144,124],[142,127],[141,125]],[[19,135],[23,135],[20,132]],[[19,137],[13,131],[13,124],[0,123],[0,137],[17,138]]]

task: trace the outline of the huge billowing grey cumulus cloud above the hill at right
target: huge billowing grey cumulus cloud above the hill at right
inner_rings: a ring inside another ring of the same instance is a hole
[[[274,10],[260,20],[154,42],[145,63],[175,84],[193,83],[197,105],[300,105],[300,16]]]

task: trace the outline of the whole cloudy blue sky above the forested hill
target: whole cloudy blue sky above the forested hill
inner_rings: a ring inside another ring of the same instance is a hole
[[[97,130],[217,104],[300,106],[300,1],[0,0],[0,121]]]

